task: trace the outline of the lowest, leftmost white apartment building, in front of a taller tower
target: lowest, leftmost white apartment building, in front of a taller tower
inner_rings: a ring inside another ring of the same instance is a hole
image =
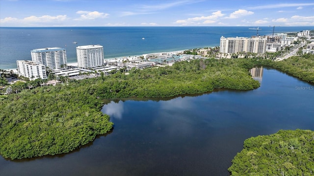
[[[46,67],[43,64],[38,64],[33,61],[16,61],[18,65],[18,73],[21,76],[29,78],[31,80],[37,79],[40,77],[41,79],[46,79]]]

